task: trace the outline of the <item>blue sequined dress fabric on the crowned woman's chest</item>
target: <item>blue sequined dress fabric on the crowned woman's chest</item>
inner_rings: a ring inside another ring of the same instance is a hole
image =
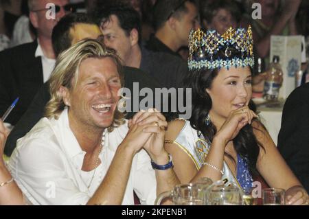
[[[250,189],[253,185],[253,178],[249,172],[249,165],[247,159],[243,159],[237,154],[237,180],[242,189]]]

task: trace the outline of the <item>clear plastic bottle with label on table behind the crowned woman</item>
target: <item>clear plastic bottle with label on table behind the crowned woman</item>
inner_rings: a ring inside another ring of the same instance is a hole
[[[283,72],[279,64],[279,56],[273,56],[273,62],[266,71],[263,98],[266,100],[278,100],[279,89],[282,86]]]

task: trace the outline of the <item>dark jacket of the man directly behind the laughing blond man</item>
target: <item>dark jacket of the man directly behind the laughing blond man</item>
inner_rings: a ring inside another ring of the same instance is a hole
[[[130,89],[133,96],[133,82],[139,82],[139,90],[145,87],[150,88],[153,93],[155,93],[156,87],[161,87],[159,83],[151,78],[148,73],[141,71],[140,69],[135,69],[131,67],[124,67],[124,87]],[[144,98],[140,97],[139,101]],[[43,87],[39,89],[34,97],[34,100],[30,104],[29,108],[21,117],[19,122],[13,128],[12,132],[8,136],[8,139],[5,143],[5,154],[10,156],[16,147],[17,139],[23,137],[27,132],[29,132],[32,127],[44,116],[45,105],[50,99],[49,95],[49,84],[46,82],[43,84]],[[133,99],[131,101],[131,106],[133,106]],[[137,112],[128,112],[126,118],[130,119]]]

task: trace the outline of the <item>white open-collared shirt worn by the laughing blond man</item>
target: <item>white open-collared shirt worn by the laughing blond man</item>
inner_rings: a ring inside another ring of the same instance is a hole
[[[127,124],[106,132],[100,154],[102,163],[89,189],[93,172],[81,170],[86,152],[82,151],[69,128],[67,109],[58,120],[42,118],[17,141],[9,168],[22,192],[34,205],[85,205],[102,183],[117,146],[127,132]],[[134,205],[133,190],[141,204],[155,203],[155,170],[145,150],[133,158],[122,205]]]

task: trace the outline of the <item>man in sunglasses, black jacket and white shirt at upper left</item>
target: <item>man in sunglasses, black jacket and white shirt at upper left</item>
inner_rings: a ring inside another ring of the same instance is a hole
[[[48,7],[50,3],[55,6],[55,19],[47,16],[48,10],[52,9]],[[29,0],[29,16],[36,29],[36,40],[0,53],[0,114],[3,115],[12,101],[20,97],[16,108],[5,121],[13,126],[54,69],[52,30],[62,16],[69,12],[68,3],[68,0]]]

